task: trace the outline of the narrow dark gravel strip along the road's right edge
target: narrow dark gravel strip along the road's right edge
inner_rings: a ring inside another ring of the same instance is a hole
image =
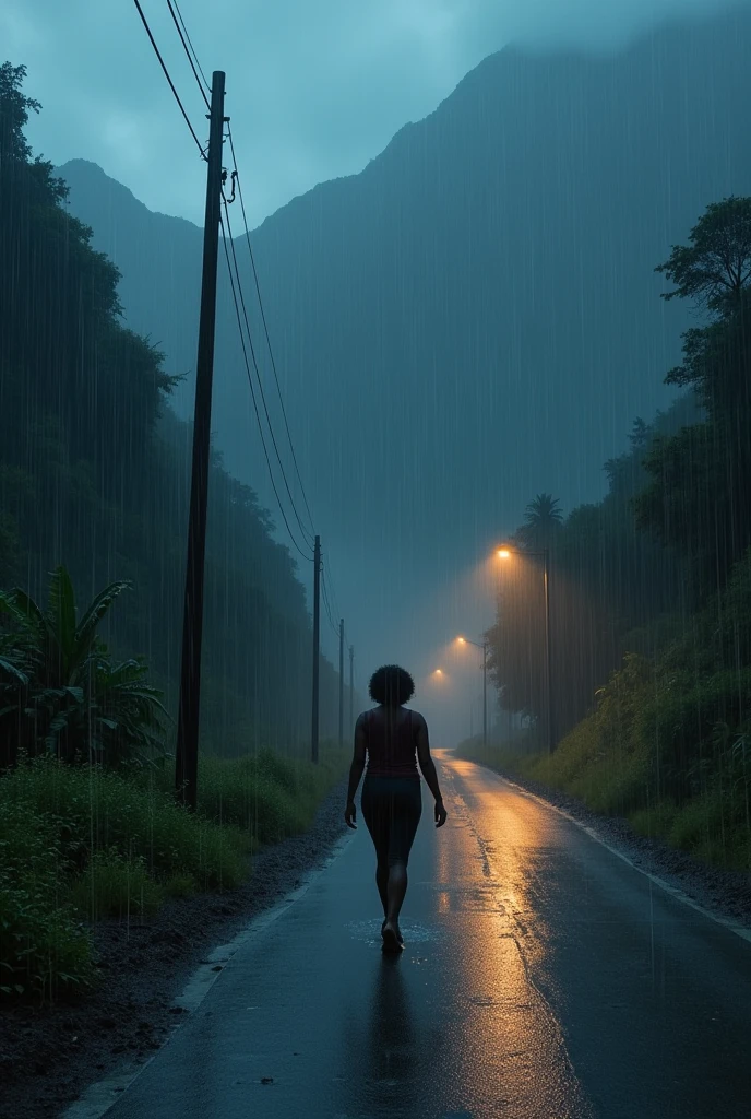
[[[507,781],[546,800],[591,828],[605,843],[615,847],[638,866],[668,885],[682,891],[693,902],[714,916],[751,930],[751,874],[742,871],[720,871],[697,863],[685,852],[669,847],[662,839],[638,835],[628,820],[599,816],[574,797],[557,789],[527,781],[514,773],[487,767]]]

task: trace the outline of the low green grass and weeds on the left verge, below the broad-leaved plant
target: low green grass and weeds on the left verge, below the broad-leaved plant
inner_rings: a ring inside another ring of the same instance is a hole
[[[232,888],[247,855],[310,826],[345,758],[201,760],[199,812],[169,769],[108,772],[42,756],[0,778],[0,988],[49,996],[96,979],[89,922]]]

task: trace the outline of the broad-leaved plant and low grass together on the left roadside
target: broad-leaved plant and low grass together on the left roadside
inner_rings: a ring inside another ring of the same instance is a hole
[[[237,887],[248,856],[307,828],[345,770],[268,749],[203,755],[192,815],[174,798],[169,716],[142,660],[97,627],[126,583],[79,615],[65,568],[40,608],[0,592],[0,993],[49,997],[94,978],[91,927],[165,899]]]

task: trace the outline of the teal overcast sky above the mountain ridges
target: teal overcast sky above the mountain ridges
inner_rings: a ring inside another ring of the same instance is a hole
[[[361,170],[510,41],[610,49],[660,20],[740,0],[182,0],[227,113],[253,224]],[[203,139],[205,107],[167,0],[142,0]],[[42,103],[35,151],[99,163],[150,208],[202,222],[203,170],[133,0],[2,0],[2,60]]]

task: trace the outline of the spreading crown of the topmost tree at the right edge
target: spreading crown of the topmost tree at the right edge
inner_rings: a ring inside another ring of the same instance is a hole
[[[656,272],[676,285],[663,299],[693,299],[716,314],[738,307],[751,282],[751,198],[731,195],[711,203],[688,235]]]

